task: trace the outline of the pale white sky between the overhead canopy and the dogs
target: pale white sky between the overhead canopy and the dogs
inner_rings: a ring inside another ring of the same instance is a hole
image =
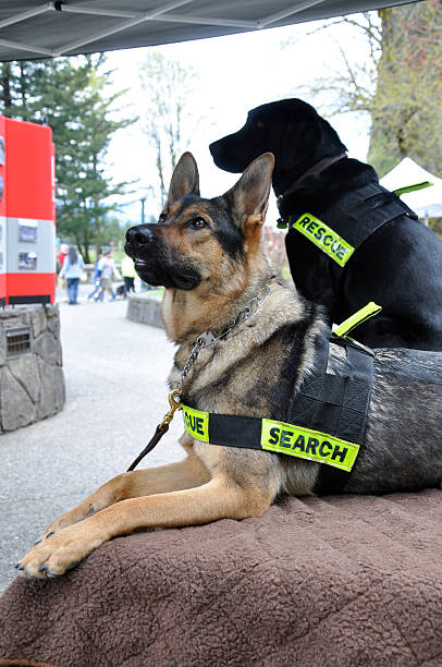
[[[225,192],[237,180],[235,174],[219,170],[208,150],[209,144],[238,130],[247,111],[261,104],[300,97],[318,108],[318,100],[306,96],[303,86],[318,77],[330,75],[342,66],[340,48],[353,61],[368,58],[368,48],[348,25],[314,22],[297,26],[265,29],[149,47],[112,51],[108,54],[108,69],[113,72],[114,89],[127,88],[123,113],[126,118],[142,116],[146,104],[139,83],[139,65],[151,50],[177,60],[183,66],[192,65],[198,73],[195,92],[189,99],[195,118],[204,117],[188,149],[194,154],[200,174],[201,196],[211,197]],[[326,29],[318,29],[328,25]],[[321,108],[322,111],[322,108]],[[368,150],[369,119],[365,114],[341,114],[328,118],[348,155],[363,161]],[[137,181],[133,192],[120,202],[145,196],[155,180],[154,154],[143,134],[140,123],[119,131],[111,142],[107,157],[108,173],[118,181]],[[140,204],[122,208],[127,223],[137,223]],[[146,214],[158,217],[159,202],[146,201]],[[268,218],[278,217],[271,199]]]

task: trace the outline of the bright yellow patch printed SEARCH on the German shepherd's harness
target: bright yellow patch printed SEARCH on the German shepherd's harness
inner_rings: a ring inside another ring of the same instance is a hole
[[[271,420],[262,420],[261,447],[268,451],[327,463],[346,472],[352,470],[359,451],[359,445],[354,442]]]

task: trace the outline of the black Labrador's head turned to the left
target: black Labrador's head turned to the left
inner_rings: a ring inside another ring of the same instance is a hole
[[[262,153],[275,158],[273,185],[294,180],[324,157],[346,150],[337,133],[300,99],[283,99],[251,109],[246,124],[234,134],[210,144],[220,169],[243,171]]]

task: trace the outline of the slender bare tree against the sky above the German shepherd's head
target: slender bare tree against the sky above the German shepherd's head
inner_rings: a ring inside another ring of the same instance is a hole
[[[162,204],[172,171],[201,120],[192,116],[189,107],[197,74],[176,60],[149,51],[139,76],[145,93],[142,129],[155,151],[155,189]]]

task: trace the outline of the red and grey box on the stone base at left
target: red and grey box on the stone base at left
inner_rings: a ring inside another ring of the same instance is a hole
[[[0,303],[53,303],[52,131],[0,116]]]

